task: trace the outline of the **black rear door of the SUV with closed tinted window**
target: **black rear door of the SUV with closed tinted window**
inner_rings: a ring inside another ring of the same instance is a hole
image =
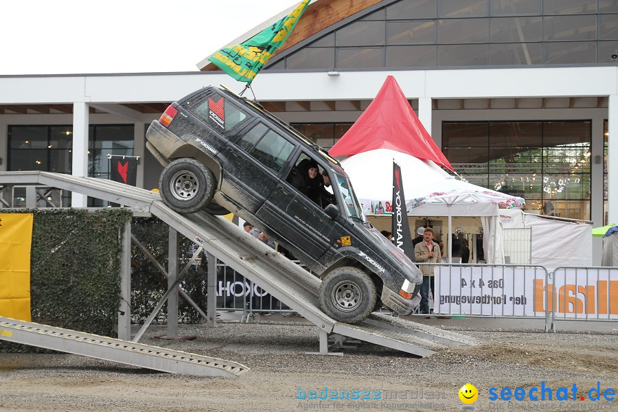
[[[220,153],[224,174],[221,192],[255,214],[277,185],[295,148],[263,122],[254,122]]]

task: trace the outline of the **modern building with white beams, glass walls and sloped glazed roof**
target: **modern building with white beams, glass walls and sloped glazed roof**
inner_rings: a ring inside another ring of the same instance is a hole
[[[393,75],[468,181],[532,213],[618,222],[618,0],[317,0],[284,47],[253,93],[317,144],[332,146]],[[157,187],[150,121],[207,84],[244,86],[207,60],[198,69],[0,76],[0,170],[105,179],[106,155],[137,155],[138,185]]]

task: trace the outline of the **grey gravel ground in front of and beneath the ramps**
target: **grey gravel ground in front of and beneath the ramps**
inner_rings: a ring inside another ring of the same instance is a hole
[[[165,326],[152,326],[142,343],[224,358],[251,371],[231,380],[163,374],[66,354],[0,354],[0,410],[455,411],[464,406],[457,391],[471,382],[479,390],[474,407],[480,411],[618,411],[618,401],[488,398],[492,387],[498,393],[503,387],[523,387],[527,393],[542,381],[553,388],[554,397],[559,387],[567,387],[571,398],[573,384],[577,398],[587,396],[597,382],[602,391],[618,391],[615,333],[478,328],[461,333],[481,345],[417,358],[364,343],[343,356],[318,356],[306,354],[319,349],[317,328],[307,323],[180,325],[179,334],[196,336],[194,341],[155,339],[165,334]],[[354,390],[361,396],[367,391],[370,399],[339,399],[341,391]],[[332,399],[334,391],[337,399]]]

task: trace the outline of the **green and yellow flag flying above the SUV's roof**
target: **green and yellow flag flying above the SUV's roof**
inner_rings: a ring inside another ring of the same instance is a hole
[[[309,1],[303,0],[288,16],[240,45],[231,45],[219,50],[209,60],[239,82],[251,84],[275,50],[286,41],[309,5]]]

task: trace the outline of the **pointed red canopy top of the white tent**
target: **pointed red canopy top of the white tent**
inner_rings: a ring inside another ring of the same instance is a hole
[[[455,171],[421,124],[393,76],[387,76],[376,98],[328,154],[351,156],[374,149],[396,150]]]

